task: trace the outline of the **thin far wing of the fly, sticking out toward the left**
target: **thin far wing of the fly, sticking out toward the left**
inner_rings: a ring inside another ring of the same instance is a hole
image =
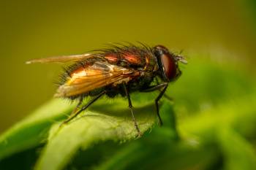
[[[26,61],[27,64],[29,63],[66,63],[69,61],[81,61],[86,58],[97,57],[91,54],[80,54],[80,55],[63,55],[63,56],[56,56],[50,58],[37,58],[31,61]]]

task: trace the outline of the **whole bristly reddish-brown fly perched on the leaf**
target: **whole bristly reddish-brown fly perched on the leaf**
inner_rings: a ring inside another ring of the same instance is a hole
[[[132,120],[138,136],[141,136],[129,94],[135,91],[159,90],[155,105],[159,124],[162,125],[158,101],[164,95],[168,82],[180,77],[178,61],[187,63],[183,56],[171,53],[162,45],[149,47],[141,43],[140,45],[110,44],[105,49],[94,50],[92,54],[39,58],[26,63],[73,62],[61,74],[55,96],[78,99],[79,102],[62,124],[68,123],[103,95],[110,98],[121,95],[127,97]],[[91,101],[81,106],[87,96],[92,97]]]

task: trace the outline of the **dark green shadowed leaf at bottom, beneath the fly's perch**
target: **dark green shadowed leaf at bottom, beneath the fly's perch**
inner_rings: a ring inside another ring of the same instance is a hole
[[[145,138],[122,146],[92,169],[207,169],[219,161],[214,144],[177,140],[170,128],[154,128]]]

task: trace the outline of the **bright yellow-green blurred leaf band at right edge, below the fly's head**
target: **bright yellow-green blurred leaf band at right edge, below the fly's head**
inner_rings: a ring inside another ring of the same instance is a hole
[[[217,128],[226,125],[236,128],[243,136],[251,137],[256,132],[256,95],[225,101],[218,107],[200,112],[194,117],[182,120],[178,129],[183,136],[197,136],[203,141],[215,141]],[[245,130],[245,129],[246,130]]]

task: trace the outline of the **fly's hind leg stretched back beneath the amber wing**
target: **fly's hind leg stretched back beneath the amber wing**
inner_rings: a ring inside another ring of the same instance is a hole
[[[80,112],[83,112],[83,110],[87,109],[87,107],[89,107],[91,104],[94,103],[94,101],[97,101],[98,98],[100,98],[102,95],[104,95],[106,93],[106,91],[102,91],[101,93],[99,93],[97,96],[95,96],[94,98],[91,99],[91,101],[89,101],[85,106],[83,106],[81,109],[78,109],[78,107],[80,107],[80,104],[82,104],[82,101],[79,101],[78,106],[75,107],[74,111],[72,112],[72,114],[67,118],[67,120],[64,120],[63,123],[61,123],[61,125],[64,125],[66,123],[69,123],[70,120],[72,120],[73,118],[77,117]]]

